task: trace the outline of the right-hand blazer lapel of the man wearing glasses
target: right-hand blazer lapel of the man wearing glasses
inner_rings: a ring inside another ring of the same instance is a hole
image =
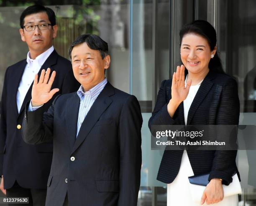
[[[40,77],[40,74],[41,74],[41,71],[43,69],[47,69],[48,67],[51,68],[51,66],[55,65],[57,63],[57,58],[58,58],[58,53],[54,50],[50,56],[46,59],[46,61],[44,62],[44,64],[41,66],[41,69],[38,71],[38,79]],[[51,71],[52,72],[52,71]],[[23,100],[23,103],[21,105],[21,108],[20,108],[20,114],[23,113],[23,109],[25,108],[26,106],[26,103],[31,100],[31,92],[32,92],[32,86],[33,86],[33,83],[34,81],[32,82],[32,84],[30,85],[29,89],[28,89],[28,92]],[[19,115],[20,115],[19,114]]]

